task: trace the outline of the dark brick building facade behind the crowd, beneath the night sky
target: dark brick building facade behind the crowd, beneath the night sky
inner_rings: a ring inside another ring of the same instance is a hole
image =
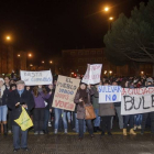
[[[136,64],[135,69],[132,63],[116,66],[107,59],[103,51],[105,48],[62,51],[63,74],[66,76],[72,76],[72,74],[85,75],[87,64],[102,64],[102,76],[134,76],[136,73],[138,75],[152,76],[153,69],[151,64]]]

